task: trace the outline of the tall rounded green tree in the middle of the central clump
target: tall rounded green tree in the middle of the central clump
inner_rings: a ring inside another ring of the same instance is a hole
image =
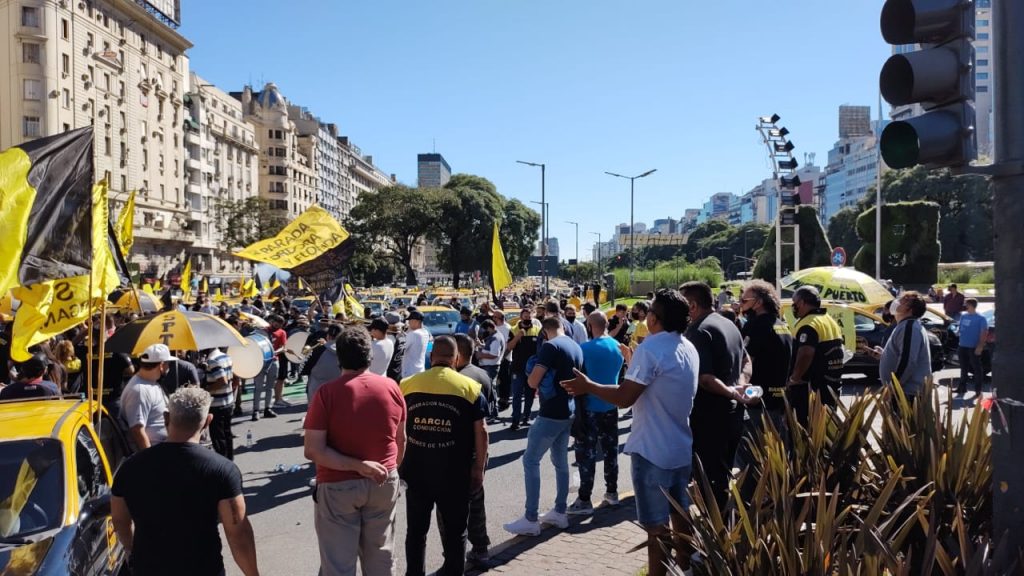
[[[490,180],[456,174],[434,196],[434,206],[429,237],[438,247],[438,265],[452,273],[452,286],[458,289],[463,271],[490,261],[490,237],[505,199]]]

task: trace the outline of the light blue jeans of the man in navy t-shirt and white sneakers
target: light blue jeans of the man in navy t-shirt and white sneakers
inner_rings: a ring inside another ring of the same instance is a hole
[[[522,455],[522,469],[526,477],[526,520],[537,522],[537,508],[541,500],[541,458],[551,450],[551,463],[555,466],[555,511],[565,513],[569,497],[569,427],[571,419],[554,420],[538,416],[526,435],[526,451]]]

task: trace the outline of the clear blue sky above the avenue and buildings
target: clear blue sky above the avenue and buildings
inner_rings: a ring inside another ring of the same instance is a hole
[[[843,104],[870,105],[881,0],[183,0],[191,68],[224,90],[272,81],[416,184],[416,155],[540,201],[589,259],[629,221],[680,217],[769,177],[754,130],[782,117],[823,166]],[[436,143],[435,143],[436,142]],[[801,162],[803,164],[803,162]],[[537,206],[535,206],[537,207]],[[537,207],[539,208],[539,207]]]

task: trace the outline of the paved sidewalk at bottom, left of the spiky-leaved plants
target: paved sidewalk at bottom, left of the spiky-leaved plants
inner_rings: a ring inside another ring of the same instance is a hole
[[[635,521],[633,495],[624,495],[615,507],[601,506],[591,517],[569,517],[567,530],[546,528],[540,536],[502,542],[492,548],[487,570],[466,574],[633,576],[647,565],[645,548],[629,552],[646,541]]]

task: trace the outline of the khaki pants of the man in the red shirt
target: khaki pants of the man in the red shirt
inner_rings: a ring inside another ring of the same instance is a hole
[[[399,490],[397,470],[380,486],[368,479],[316,486],[314,521],[323,576],[354,576],[356,558],[365,576],[394,574]]]

